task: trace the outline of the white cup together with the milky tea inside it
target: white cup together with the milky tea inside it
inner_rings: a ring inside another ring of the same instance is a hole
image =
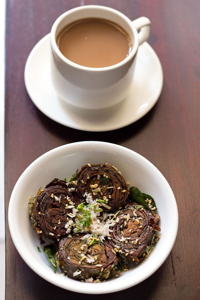
[[[146,17],[131,21],[99,5],[63,13],[51,30],[51,78],[58,95],[86,109],[122,101],[133,81],[138,47],[148,39],[150,25]]]

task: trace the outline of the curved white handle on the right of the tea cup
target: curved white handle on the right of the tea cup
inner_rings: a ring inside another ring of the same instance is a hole
[[[137,30],[140,30],[140,32],[138,32],[138,39],[139,39],[139,45],[141,45],[149,37],[150,29],[151,29],[151,21],[146,17],[140,17],[132,21],[132,24]]]

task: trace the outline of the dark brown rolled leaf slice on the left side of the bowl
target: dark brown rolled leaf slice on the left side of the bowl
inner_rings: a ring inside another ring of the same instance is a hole
[[[41,244],[42,236],[59,241],[66,235],[67,219],[75,216],[75,203],[66,187],[53,185],[39,190],[37,197],[29,204],[32,227],[37,230]]]

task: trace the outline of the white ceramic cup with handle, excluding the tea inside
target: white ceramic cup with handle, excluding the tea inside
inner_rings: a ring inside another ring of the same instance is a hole
[[[133,41],[131,53],[120,63],[89,68],[73,63],[58,49],[58,33],[68,24],[85,18],[102,18],[118,24]],[[51,29],[51,78],[58,95],[79,108],[102,109],[123,100],[133,81],[138,47],[149,37],[151,22],[146,17],[131,21],[113,8],[86,5],[64,12]],[[138,30],[139,33],[138,33]]]

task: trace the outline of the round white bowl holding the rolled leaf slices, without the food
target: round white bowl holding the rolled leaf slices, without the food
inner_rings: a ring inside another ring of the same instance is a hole
[[[117,167],[130,186],[136,186],[154,198],[160,215],[161,238],[147,259],[127,272],[122,272],[120,277],[96,284],[79,282],[59,272],[54,273],[46,254],[38,252],[40,242],[28,215],[29,197],[36,196],[38,189],[53,178],[70,178],[87,163],[104,162]],[[74,292],[103,294],[132,287],[148,278],[163,264],[176,239],[178,209],[168,182],[146,158],[119,145],[89,141],[63,145],[37,158],[22,173],[12,191],[8,222],[17,251],[39,276]]]

